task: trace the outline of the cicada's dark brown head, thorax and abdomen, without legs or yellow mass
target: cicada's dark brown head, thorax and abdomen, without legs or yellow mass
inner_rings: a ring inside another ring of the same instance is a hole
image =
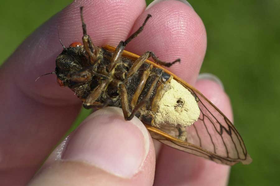
[[[124,101],[129,106],[129,112],[140,104],[142,107],[138,109],[136,116],[143,122],[151,124],[153,114],[156,113],[157,102],[162,97],[163,84],[169,82],[172,76],[144,62],[139,69],[127,77],[134,60],[124,56],[119,57],[114,69],[108,73],[114,52],[100,47],[96,47],[96,50],[99,62],[95,68],[92,68],[83,46],[65,48],[56,60],[55,72],[58,79],[83,100],[85,108],[96,107],[99,103],[98,107],[108,105],[122,108],[121,92],[124,91],[127,97]],[[95,90],[97,90],[94,94],[96,96],[92,98]]]

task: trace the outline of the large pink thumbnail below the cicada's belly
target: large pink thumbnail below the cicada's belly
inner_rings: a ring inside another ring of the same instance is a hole
[[[125,121],[120,108],[108,107],[83,122],[69,140],[62,158],[130,178],[141,169],[149,145],[147,130],[138,118]]]

